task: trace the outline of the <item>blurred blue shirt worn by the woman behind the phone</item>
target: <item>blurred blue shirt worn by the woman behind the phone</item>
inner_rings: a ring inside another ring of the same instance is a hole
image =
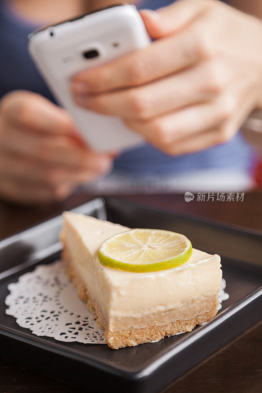
[[[156,9],[171,2],[145,0],[140,7]],[[8,9],[5,1],[0,0],[0,97],[11,90],[26,89],[55,102],[28,55],[27,36],[34,28],[37,26],[18,18]],[[175,157],[145,144],[117,158],[114,171],[135,176],[175,175],[207,168],[248,171],[252,157],[253,149],[237,134],[227,143]]]

